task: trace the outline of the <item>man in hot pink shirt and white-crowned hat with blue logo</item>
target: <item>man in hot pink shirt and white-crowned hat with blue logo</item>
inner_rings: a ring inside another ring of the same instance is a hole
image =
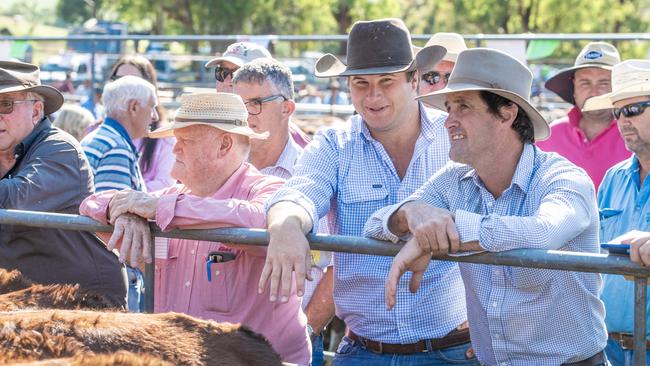
[[[573,108],[566,117],[551,123],[551,137],[537,144],[544,151],[556,152],[589,174],[596,189],[612,165],[630,156],[609,111],[582,112],[588,98],[612,90],[612,67],[621,62],[614,46],[605,42],[586,45],[575,65],[546,82]]]

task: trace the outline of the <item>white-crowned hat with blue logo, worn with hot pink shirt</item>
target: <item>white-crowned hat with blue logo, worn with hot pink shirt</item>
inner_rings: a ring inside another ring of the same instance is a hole
[[[621,62],[621,56],[616,47],[607,42],[591,42],[580,51],[573,67],[560,70],[548,79],[544,86],[565,101],[576,104],[573,99],[573,75],[577,70],[588,67],[611,70],[619,62]]]

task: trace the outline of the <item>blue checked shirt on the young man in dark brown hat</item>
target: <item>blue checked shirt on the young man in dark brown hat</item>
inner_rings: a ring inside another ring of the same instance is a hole
[[[424,111],[421,107],[421,111]],[[319,132],[303,151],[295,175],[267,203],[292,201],[317,222],[331,209],[333,233],[360,236],[376,210],[408,197],[448,160],[446,114],[421,113],[421,132],[400,180],[386,150],[360,116],[348,126]],[[384,282],[392,258],[335,253],[337,316],[356,334],[384,343],[440,338],[467,319],[458,265],[433,261],[417,294],[400,282],[397,306],[386,310]]]

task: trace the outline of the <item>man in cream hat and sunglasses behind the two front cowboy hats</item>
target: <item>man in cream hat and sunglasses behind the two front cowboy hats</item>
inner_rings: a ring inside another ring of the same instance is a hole
[[[437,63],[431,63],[431,58],[427,57],[428,55],[425,56],[424,53],[420,57],[416,56],[419,95],[429,94],[446,87],[449,75],[451,75],[451,71],[458,59],[458,54],[467,49],[463,36],[458,33],[436,33],[424,45],[424,47],[429,46],[442,46],[447,50],[447,53]]]

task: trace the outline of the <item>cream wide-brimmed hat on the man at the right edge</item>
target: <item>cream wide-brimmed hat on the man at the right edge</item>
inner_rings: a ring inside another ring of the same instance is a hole
[[[614,102],[643,96],[650,96],[650,60],[626,60],[612,69],[612,92],[587,99],[582,110],[614,108]]]

